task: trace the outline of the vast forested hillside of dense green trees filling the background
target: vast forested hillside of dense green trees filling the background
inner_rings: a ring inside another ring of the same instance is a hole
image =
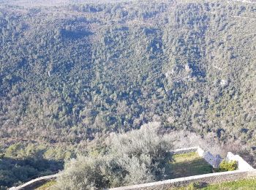
[[[2,150],[150,121],[254,145],[255,1],[0,3]]]

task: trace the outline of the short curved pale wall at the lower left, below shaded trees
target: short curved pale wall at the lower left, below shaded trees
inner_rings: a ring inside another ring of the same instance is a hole
[[[18,190],[18,189],[23,189],[23,190],[29,190],[29,189],[36,189],[39,186],[42,186],[43,184],[47,183],[50,180],[55,180],[57,178],[58,174],[55,175],[48,175],[44,176],[41,178],[37,178],[34,180],[30,180],[27,183],[24,183],[22,186],[17,186],[17,187],[12,187],[10,190]]]

